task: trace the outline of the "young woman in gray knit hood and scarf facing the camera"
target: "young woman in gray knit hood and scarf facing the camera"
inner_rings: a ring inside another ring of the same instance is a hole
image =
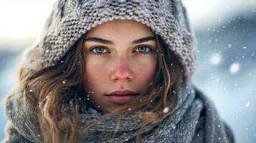
[[[3,142],[234,142],[193,84],[181,1],[59,0],[6,97]]]

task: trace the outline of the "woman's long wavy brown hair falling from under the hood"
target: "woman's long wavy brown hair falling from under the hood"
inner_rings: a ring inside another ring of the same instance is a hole
[[[38,71],[24,69],[19,71],[24,101],[36,107],[34,113],[39,119],[39,130],[43,142],[77,142],[79,109],[87,106],[83,100],[85,95],[82,94],[82,91],[86,90],[82,84],[85,71],[85,50],[82,46],[84,38],[85,36],[82,36],[56,65]],[[178,103],[183,83],[178,58],[161,39],[161,36],[156,35],[156,42],[158,67],[146,91],[115,112],[103,116],[104,118],[114,114],[125,115],[129,112],[136,112],[138,117],[143,119],[140,129],[136,132],[136,142],[139,142],[144,133],[156,127],[172,113]],[[63,105],[69,103],[73,106],[71,111],[66,111]],[[130,107],[132,109],[128,110]],[[163,112],[166,107],[169,112]],[[93,125],[90,124],[87,129]]]

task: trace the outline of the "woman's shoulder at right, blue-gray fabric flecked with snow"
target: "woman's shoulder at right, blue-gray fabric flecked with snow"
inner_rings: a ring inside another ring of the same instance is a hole
[[[200,89],[194,87],[196,99],[203,102],[204,107],[196,124],[195,136],[203,136],[204,142],[234,143],[234,134],[227,122],[222,120],[214,103]],[[194,138],[194,142],[199,142]]]

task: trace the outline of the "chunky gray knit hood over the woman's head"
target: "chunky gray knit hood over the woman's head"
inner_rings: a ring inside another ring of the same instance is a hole
[[[185,81],[190,79],[194,37],[180,0],[57,0],[39,41],[27,50],[30,67],[57,64],[83,34],[114,19],[133,19],[149,26],[179,57]]]

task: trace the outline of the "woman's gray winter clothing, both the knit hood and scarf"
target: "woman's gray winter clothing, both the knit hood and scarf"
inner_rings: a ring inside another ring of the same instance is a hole
[[[24,66],[40,69],[60,61],[77,39],[93,27],[114,19],[133,19],[149,26],[160,35],[168,48],[178,56],[184,84],[174,112],[156,128],[144,134],[141,142],[234,142],[232,132],[218,116],[214,105],[195,87],[189,85],[194,71],[194,37],[189,29],[186,10],[179,0],[58,0],[44,26],[42,37],[27,50]],[[25,107],[22,92],[14,89],[6,102],[6,137],[2,142],[41,142],[34,108]],[[67,107],[68,108],[68,107]],[[134,142],[141,122],[135,114],[123,117],[118,133],[112,137],[118,117],[110,117],[83,130],[100,119],[102,112],[93,108],[80,111],[79,142]],[[83,128],[84,127],[84,128]]]

